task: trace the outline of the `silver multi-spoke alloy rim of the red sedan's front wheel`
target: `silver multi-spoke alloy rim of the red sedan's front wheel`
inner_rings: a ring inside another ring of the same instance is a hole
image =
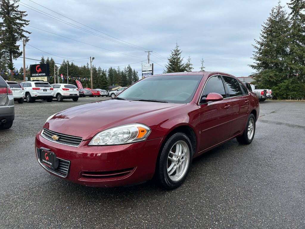
[[[167,156],[167,174],[172,181],[181,180],[188,170],[190,151],[185,141],[176,142]]]

